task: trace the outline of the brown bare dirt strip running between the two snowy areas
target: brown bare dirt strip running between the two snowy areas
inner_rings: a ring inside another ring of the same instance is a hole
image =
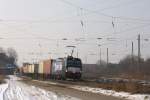
[[[48,91],[53,91],[56,93],[61,93],[63,95],[70,95],[73,97],[80,98],[81,100],[126,100],[124,98],[118,98],[113,96],[107,96],[100,93],[92,93],[85,92],[82,90],[75,89],[74,87],[80,86],[84,87],[86,82],[83,82],[84,86],[81,86],[80,82],[73,80],[48,80],[48,81],[40,81],[40,80],[31,80],[31,79],[23,79],[23,82],[29,85],[34,85]],[[80,84],[80,85],[78,85]]]

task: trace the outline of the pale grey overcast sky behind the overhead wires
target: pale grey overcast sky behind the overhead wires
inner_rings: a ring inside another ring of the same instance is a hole
[[[18,63],[63,57],[75,45],[83,62],[96,63],[101,44],[102,59],[118,62],[137,55],[150,57],[150,0],[0,0],[0,46],[13,47]],[[62,40],[67,38],[67,40]],[[97,38],[102,38],[98,40]],[[81,41],[77,41],[81,40]]]

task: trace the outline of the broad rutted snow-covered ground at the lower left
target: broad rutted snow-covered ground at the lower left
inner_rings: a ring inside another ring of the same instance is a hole
[[[79,100],[78,98],[29,86],[18,80],[20,79],[10,76],[8,84],[0,85],[4,88],[3,92],[0,92],[0,95],[2,95],[0,100]]]

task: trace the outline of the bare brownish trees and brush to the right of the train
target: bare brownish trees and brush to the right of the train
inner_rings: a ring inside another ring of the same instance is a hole
[[[138,56],[127,55],[119,63],[97,62],[99,73],[103,76],[117,76],[123,78],[150,79],[150,58],[144,60]]]

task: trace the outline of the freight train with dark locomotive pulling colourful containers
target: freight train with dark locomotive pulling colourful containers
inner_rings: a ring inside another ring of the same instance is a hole
[[[82,62],[79,58],[68,56],[40,61],[38,64],[24,63],[20,73],[34,79],[80,79]]]

